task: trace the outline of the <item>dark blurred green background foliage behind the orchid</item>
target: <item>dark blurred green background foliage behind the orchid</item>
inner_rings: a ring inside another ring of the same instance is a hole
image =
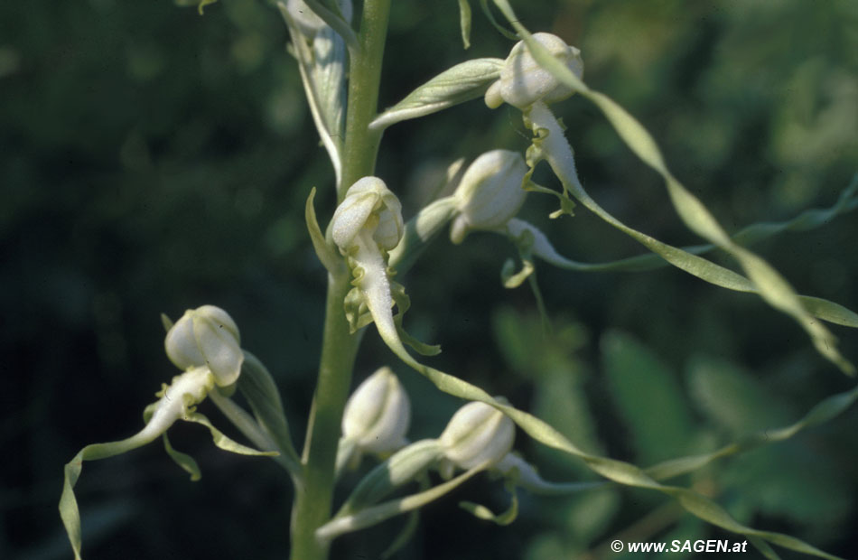
[[[676,176],[727,229],[829,206],[858,169],[852,0],[514,4],[531,30],[582,49],[587,81],[648,126]],[[383,106],[453,63],[506,55],[511,43],[473,7],[472,46],[462,51],[456,2],[394,3]],[[333,196],[285,40],[276,10],[246,0],[211,5],[204,17],[168,0],[0,5],[0,557],[70,557],[56,509],[62,465],[84,444],[135,432],[176,373],[159,313],[228,309],[243,345],[277,378],[301,443],[324,281],[303,203],[318,186],[326,220]],[[592,105],[572,98],[556,112],[597,200],[657,238],[696,241],[657,175]],[[472,101],[390,129],[378,173],[407,217],[424,201],[426,177],[462,155],[523,150],[523,136],[516,111]],[[545,169],[536,179],[558,186]],[[585,210],[549,221],[554,204],[531,196],[523,214],[565,255],[639,254]],[[854,310],[856,239],[853,213],[757,248],[800,293]],[[788,424],[852,385],[759,298],[671,269],[582,275],[540,266],[554,326],[544,334],[527,288],[500,285],[500,266],[514,255],[490,235],[460,247],[439,238],[400,279],[413,301],[406,324],[443,345],[434,365],[506,395],[586,449],[646,466]],[[858,335],[834,330],[858,360]],[[413,439],[439,434],[459,403],[397,367],[368,333],[357,378],[384,363],[411,390]],[[851,557],[856,422],[850,411],[680,482],[754,527]],[[200,462],[201,481],[187,481],[160,445],[85,465],[85,556],[284,558],[292,498],[284,473],[219,452],[190,425],[171,434]],[[548,478],[590,478],[522,434],[517,447]],[[425,511],[398,557],[616,558],[605,543],[618,536],[741,540],[647,492],[523,496],[510,527],[471,518],[456,506],[462,499],[495,511],[507,503],[497,481],[473,481]],[[377,558],[401,523],[343,537],[331,557]]]

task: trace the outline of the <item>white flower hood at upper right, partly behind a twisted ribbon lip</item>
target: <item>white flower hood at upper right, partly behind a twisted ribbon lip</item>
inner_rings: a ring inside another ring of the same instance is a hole
[[[584,65],[581,51],[567,45],[563,39],[551,33],[534,33],[533,38],[544,46],[555,59],[563,62],[578,78],[583,76]],[[500,107],[507,102],[513,107],[526,109],[536,101],[546,104],[562,101],[574,93],[565,84],[545,70],[523,41],[519,41],[509,51],[507,61],[500,70],[500,79],[486,91],[486,105],[490,108]]]

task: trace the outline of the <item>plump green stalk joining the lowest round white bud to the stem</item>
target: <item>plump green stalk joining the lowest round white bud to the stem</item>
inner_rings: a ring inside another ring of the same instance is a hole
[[[352,490],[336,517],[347,516],[378,503],[397,488],[415,481],[442,457],[443,449],[438,440],[421,440],[406,445],[368,472]]]

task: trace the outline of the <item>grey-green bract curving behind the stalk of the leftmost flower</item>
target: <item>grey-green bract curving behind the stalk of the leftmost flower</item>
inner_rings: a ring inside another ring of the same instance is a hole
[[[247,399],[258,425],[281,453],[284,466],[294,476],[300,475],[303,469],[292,443],[280,392],[265,365],[247,350],[242,375],[238,378],[238,390]]]

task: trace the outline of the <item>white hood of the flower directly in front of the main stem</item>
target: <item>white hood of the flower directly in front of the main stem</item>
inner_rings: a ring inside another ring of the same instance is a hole
[[[389,251],[399,244],[404,228],[402,204],[378,177],[364,177],[351,185],[331,219],[333,241],[343,251],[354,245],[361,232]]]

